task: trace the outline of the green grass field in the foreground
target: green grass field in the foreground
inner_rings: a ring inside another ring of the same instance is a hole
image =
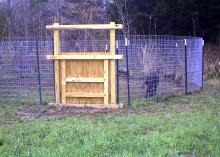
[[[22,118],[0,104],[2,157],[219,157],[220,80],[203,90],[117,112]]]

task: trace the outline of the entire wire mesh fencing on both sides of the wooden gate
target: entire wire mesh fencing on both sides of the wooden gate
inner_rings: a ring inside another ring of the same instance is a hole
[[[51,37],[0,39],[0,102],[55,101]],[[174,36],[117,36],[118,102],[159,100],[203,85],[203,40]],[[63,52],[109,52],[109,40],[62,40]],[[73,67],[74,68],[74,67]]]

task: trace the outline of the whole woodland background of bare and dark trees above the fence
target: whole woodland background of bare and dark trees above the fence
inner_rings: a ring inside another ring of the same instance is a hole
[[[0,36],[45,36],[45,25],[108,23],[124,34],[200,36],[217,43],[219,0],[0,0]]]

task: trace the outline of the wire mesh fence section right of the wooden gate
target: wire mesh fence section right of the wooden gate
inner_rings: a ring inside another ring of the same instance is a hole
[[[187,49],[185,39],[189,42]],[[200,89],[201,42],[201,38],[189,37],[118,36],[118,51],[128,58],[119,61],[119,100],[129,104],[130,100],[132,103],[183,94],[187,87],[189,92]]]

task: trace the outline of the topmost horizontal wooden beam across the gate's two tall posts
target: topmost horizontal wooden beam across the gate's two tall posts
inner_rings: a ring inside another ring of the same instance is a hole
[[[123,29],[122,24],[89,24],[89,25],[47,25],[48,30],[75,30],[75,29]]]

